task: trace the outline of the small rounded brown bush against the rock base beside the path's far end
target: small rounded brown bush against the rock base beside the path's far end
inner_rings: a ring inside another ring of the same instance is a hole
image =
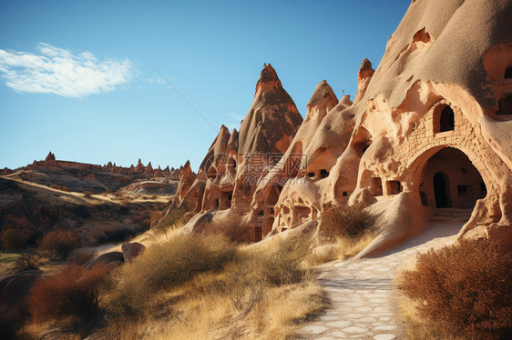
[[[328,238],[359,237],[368,229],[363,205],[333,205],[323,210],[321,233]]]

